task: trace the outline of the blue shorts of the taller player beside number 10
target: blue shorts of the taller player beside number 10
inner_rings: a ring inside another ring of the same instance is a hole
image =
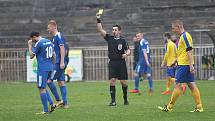
[[[66,68],[67,65],[65,65]],[[51,80],[57,80],[57,81],[65,81],[65,69],[60,68],[60,64],[55,64],[54,70],[51,74]]]

